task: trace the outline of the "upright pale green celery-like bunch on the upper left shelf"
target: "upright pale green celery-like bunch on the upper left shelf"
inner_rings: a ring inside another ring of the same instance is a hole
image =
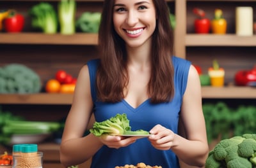
[[[60,21],[61,34],[74,34],[76,14],[75,0],[61,0],[58,4],[58,17]]]

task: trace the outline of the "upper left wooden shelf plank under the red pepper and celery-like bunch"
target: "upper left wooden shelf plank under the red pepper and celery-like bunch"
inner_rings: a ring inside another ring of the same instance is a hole
[[[0,33],[0,44],[19,45],[97,45],[98,34],[72,35],[44,34],[38,32]]]

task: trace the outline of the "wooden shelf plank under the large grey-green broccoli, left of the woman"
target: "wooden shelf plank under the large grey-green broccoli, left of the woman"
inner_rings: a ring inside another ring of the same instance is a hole
[[[73,94],[0,94],[0,104],[71,104]]]

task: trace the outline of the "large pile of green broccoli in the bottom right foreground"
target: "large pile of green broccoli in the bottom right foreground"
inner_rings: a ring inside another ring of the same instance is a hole
[[[256,167],[256,134],[243,134],[223,139],[216,144],[205,163],[205,168]]]

